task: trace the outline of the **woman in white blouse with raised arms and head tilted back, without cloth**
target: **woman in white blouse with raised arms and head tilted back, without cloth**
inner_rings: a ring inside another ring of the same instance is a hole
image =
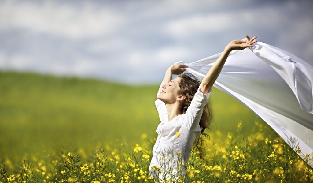
[[[186,175],[185,166],[194,141],[196,138],[199,139],[201,134],[207,135],[203,131],[209,127],[212,119],[212,115],[208,115],[210,111],[207,107],[211,87],[229,53],[232,50],[252,47],[256,42],[254,40],[256,36],[251,40],[248,35],[246,38],[248,39],[246,42],[233,40],[228,43],[223,54],[215,61],[201,83],[190,73],[182,74],[187,67],[185,65],[171,65],[167,69],[155,101],[161,123],[156,130],[158,137],[149,166],[152,177],[169,180],[177,179],[173,176],[175,172],[178,173],[178,178],[180,175]],[[172,80],[173,74],[181,75]]]

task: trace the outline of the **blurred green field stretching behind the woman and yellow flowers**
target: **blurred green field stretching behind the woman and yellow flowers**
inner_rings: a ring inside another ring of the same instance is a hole
[[[157,137],[158,87],[0,71],[0,160],[13,172],[23,159],[35,161],[62,145],[76,149],[83,160],[95,149],[121,143],[132,152],[136,144]],[[239,122],[242,135],[251,135],[258,122],[267,128],[264,137],[278,138],[263,120],[215,87],[210,102],[214,122],[208,134],[214,143],[224,145]]]

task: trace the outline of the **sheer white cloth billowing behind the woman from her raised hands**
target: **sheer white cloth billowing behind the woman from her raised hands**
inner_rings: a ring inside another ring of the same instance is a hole
[[[186,71],[202,80],[221,54],[174,64],[188,65]],[[253,47],[231,51],[213,86],[248,107],[292,149],[299,146],[299,155],[313,168],[313,161],[305,158],[305,153],[313,156],[312,81],[311,65],[258,41]]]

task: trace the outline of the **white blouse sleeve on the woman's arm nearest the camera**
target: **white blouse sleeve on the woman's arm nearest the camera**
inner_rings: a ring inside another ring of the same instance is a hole
[[[195,93],[195,96],[187,108],[185,118],[183,119],[182,123],[190,131],[197,129],[203,113],[203,107],[208,103],[211,91],[212,88],[210,89],[209,93],[204,94],[200,91],[199,86],[198,91]]]

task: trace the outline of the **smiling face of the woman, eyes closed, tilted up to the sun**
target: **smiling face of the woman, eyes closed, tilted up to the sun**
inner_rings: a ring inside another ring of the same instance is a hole
[[[170,82],[168,82],[166,85],[163,85],[163,90],[161,93],[156,97],[157,99],[160,99],[161,101],[165,103],[175,103],[177,101],[177,92],[180,90],[180,87],[178,86],[178,83],[180,82],[182,78],[177,77]]]

